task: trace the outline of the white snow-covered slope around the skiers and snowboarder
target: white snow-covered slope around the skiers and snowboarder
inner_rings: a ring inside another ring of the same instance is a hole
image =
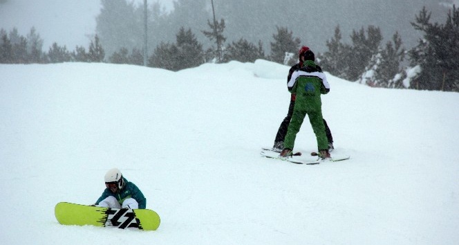
[[[0,65],[0,244],[458,244],[459,94],[327,73],[324,118],[351,159],[295,165],[259,154],[288,69]],[[295,150],[316,148],[306,120]],[[158,230],[57,223],[55,204],[94,203],[111,167]]]

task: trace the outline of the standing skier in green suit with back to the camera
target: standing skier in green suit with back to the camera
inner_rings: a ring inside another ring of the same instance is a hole
[[[330,91],[330,84],[328,84],[326,75],[317,69],[317,65],[314,62],[314,53],[308,50],[303,56],[303,66],[301,69],[294,71],[287,85],[290,93],[295,93],[297,98],[293,107],[292,121],[288,125],[287,134],[285,135],[281,156],[292,156],[295,138],[306,114],[308,114],[317,138],[319,156],[323,159],[330,158],[320,98],[321,94],[326,94]]]

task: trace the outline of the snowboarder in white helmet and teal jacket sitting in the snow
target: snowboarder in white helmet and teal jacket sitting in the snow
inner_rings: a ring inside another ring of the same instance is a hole
[[[105,174],[105,190],[93,206],[103,208],[147,208],[147,199],[137,185],[127,181],[118,170],[112,168]]]

